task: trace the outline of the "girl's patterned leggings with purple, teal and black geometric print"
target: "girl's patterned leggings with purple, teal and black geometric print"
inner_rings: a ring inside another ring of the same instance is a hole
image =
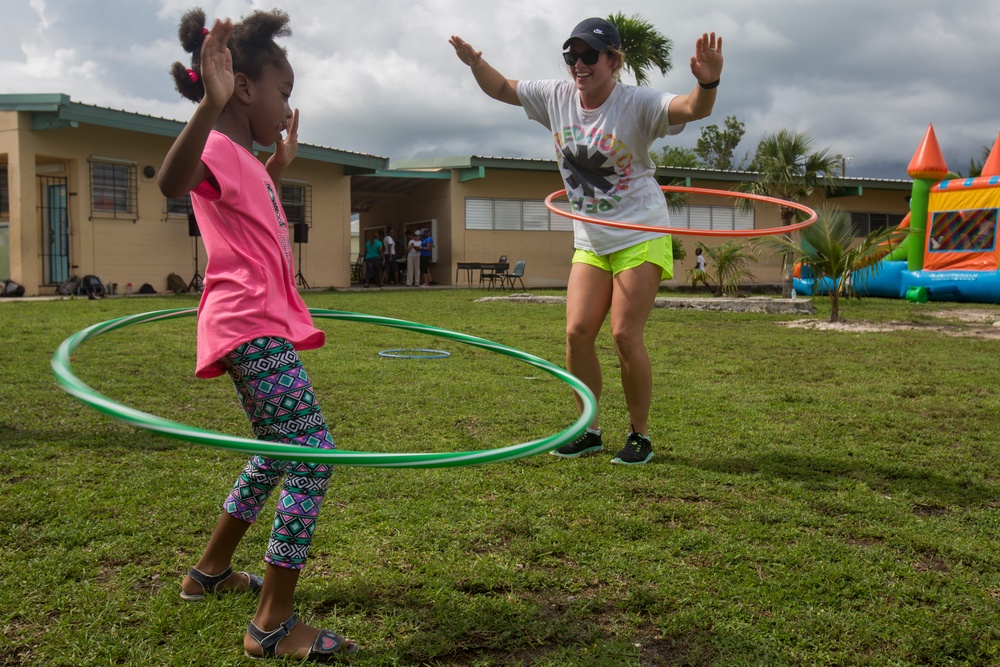
[[[226,356],[226,366],[258,440],[335,449],[299,355],[281,338],[258,338]],[[223,503],[233,517],[253,523],[282,477],[285,483],[264,560],[305,567],[333,466],[254,456]]]

